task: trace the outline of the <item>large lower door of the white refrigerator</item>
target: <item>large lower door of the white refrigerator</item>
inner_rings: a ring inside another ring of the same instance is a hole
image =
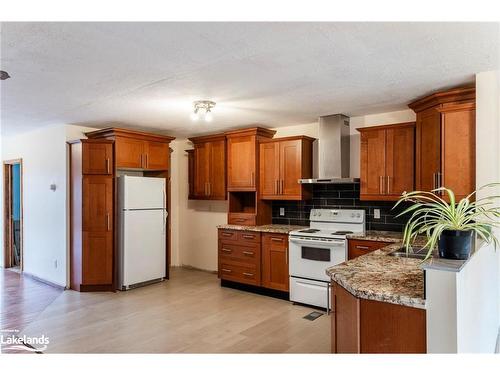
[[[165,210],[122,212],[122,286],[165,277],[166,215]]]

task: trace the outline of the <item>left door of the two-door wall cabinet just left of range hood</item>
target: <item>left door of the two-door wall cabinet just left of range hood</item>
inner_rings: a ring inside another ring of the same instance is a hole
[[[280,147],[278,142],[260,144],[260,193],[263,199],[278,195]]]

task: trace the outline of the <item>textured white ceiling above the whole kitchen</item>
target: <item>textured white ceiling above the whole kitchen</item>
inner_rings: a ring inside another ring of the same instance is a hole
[[[499,66],[497,23],[3,23],[4,134],[113,123],[176,136],[406,108]],[[192,101],[217,102],[193,123]]]

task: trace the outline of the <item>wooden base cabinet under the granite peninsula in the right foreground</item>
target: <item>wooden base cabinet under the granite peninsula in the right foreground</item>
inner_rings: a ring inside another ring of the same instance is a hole
[[[426,353],[425,310],[357,298],[332,283],[332,353]]]

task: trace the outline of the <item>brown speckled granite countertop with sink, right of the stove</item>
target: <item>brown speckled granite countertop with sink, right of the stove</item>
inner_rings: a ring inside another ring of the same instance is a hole
[[[359,298],[425,309],[422,261],[388,256],[401,247],[401,233],[366,232],[349,238],[392,243],[328,268],[333,281]]]

